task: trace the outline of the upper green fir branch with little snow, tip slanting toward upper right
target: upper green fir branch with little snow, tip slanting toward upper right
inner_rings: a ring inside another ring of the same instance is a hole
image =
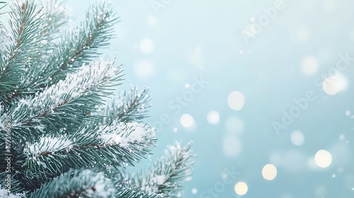
[[[108,4],[91,6],[86,12],[86,21],[81,23],[71,33],[66,33],[52,55],[47,57],[44,69],[30,78],[32,90],[44,88],[65,78],[68,73],[75,71],[83,62],[96,57],[99,47],[108,45],[113,37],[112,24],[118,20],[114,17],[112,8]]]

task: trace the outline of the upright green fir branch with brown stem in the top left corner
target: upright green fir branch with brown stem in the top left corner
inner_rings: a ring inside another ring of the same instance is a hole
[[[10,8],[9,14],[13,20],[8,21],[8,24],[11,33],[6,33],[7,42],[0,56],[0,100],[3,102],[14,94],[11,91],[16,90],[21,83],[24,65],[30,62],[29,54],[35,54],[34,46],[38,42],[42,23],[40,10],[33,1],[15,1]]]

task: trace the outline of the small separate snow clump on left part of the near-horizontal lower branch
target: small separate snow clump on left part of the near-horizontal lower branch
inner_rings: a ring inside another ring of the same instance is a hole
[[[57,137],[42,137],[40,141],[34,144],[26,143],[25,153],[37,155],[45,152],[55,152],[67,148],[72,148],[72,141],[68,139],[59,139]]]

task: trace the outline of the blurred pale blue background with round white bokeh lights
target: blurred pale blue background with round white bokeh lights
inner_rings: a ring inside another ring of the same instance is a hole
[[[67,1],[79,25],[89,4]],[[354,197],[354,1],[113,1],[103,57],[149,86],[158,145],[198,155],[184,197]]]

